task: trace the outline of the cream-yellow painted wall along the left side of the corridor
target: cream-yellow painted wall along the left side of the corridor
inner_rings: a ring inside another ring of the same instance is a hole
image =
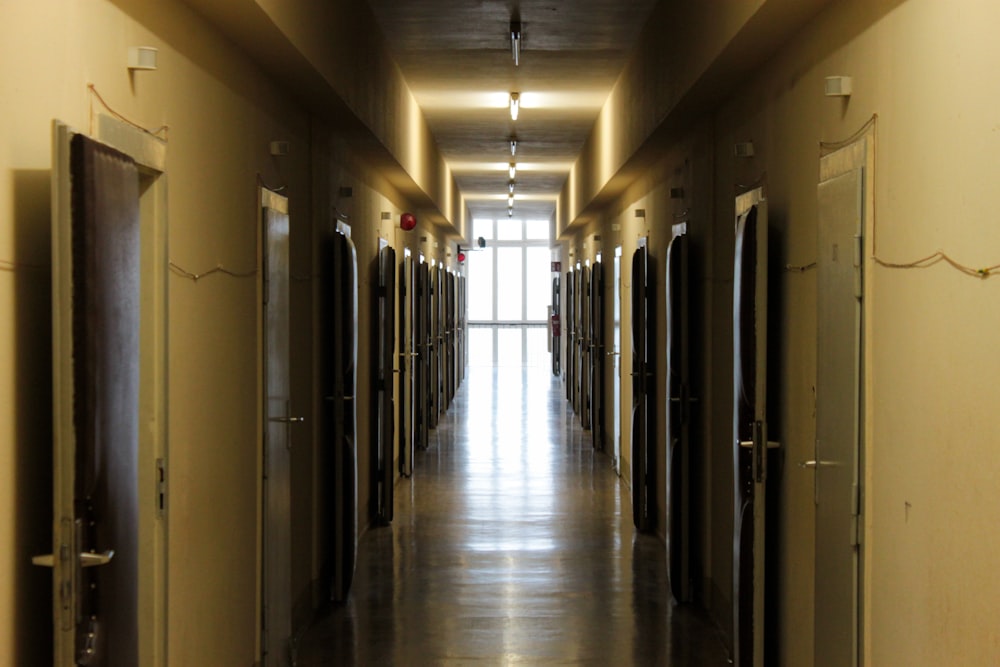
[[[389,176],[351,154],[336,129],[298,106],[216,28],[176,2],[3,3],[0,25],[0,655],[2,665],[51,661],[50,572],[30,557],[51,550],[51,315],[49,178],[53,118],[90,128],[101,103],[150,128],[168,126],[169,259],[204,273],[169,276],[169,663],[253,664],[259,618],[260,359],[259,183],[289,197],[293,411],[309,414],[316,258],[312,235],[336,205],[358,243],[359,390],[370,387],[370,272],[378,235],[400,250],[395,221],[415,208]],[[130,75],[129,46],[159,49],[155,72]],[[25,62],[31,67],[24,67]],[[319,149],[314,135],[333,136]],[[269,142],[291,143],[274,157]],[[422,162],[425,158],[415,156]],[[397,166],[398,168],[398,166]],[[326,174],[326,176],[322,176]],[[352,202],[337,201],[353,186]],[[353,207],[353,208],[352,208]],[[390,211],[390,221],[380,220]],[[439,228],[417,232],[438,248]],[[370,401],[359,403],[359,524],[368,525]],[[315,420],[310,420],[315,423]],[[316,434],[292,433],[293,601],[299,620],[316,603],[320,564],[314,504]],[[225,622],[220,622],[225,619]]]

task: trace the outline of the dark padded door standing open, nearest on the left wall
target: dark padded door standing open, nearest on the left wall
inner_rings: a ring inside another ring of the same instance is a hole
[[[53,132],[55,664],[139,661],[139,172]]]

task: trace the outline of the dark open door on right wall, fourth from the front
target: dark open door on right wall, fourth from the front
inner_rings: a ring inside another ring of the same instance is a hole
[[[640,531],[656,526],[654,452],[649,436],[655,433],[652,407],[653,358],[652,286],[646,240],[632,256],[632,518]]]

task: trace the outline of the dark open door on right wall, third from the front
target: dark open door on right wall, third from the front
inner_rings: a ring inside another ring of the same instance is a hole
[[[667,248],[667,563],[670,590],[691,600],[691,340],[687,223],[674,225]]]

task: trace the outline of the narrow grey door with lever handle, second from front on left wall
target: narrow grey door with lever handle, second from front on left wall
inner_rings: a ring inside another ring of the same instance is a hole
[[[292,488],[288,200],[261,189],[264,235],[264,632],[266,665],[291,664]]]

